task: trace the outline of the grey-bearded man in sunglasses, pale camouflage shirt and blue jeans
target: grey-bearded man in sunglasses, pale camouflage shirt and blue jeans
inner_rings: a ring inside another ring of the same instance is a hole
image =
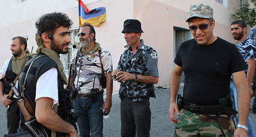
[[[74,52],[70,80],[78,92],[78,97],[74,100],[78,129],[80,136],[90,136],[90,133],[92,136],[103,136],[103,115],[110,113],[112,105],[112,57],[108,50],[101,48],[96,42],[96,33],[92,25],[83,24],[78,36],[80,48]],[[100,83],[103,78],[102,68],[106,77],[105,102],[103,86]]]

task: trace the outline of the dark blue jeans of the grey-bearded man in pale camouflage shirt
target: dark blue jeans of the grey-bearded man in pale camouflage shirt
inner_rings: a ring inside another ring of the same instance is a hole
[[[100,108],[103,105],[103,95],[97,96],[96,102],[91,98],[78,97],[74,101],[74,112],[78,115],[77,125],[79,136],[103,136],[103,115]]]

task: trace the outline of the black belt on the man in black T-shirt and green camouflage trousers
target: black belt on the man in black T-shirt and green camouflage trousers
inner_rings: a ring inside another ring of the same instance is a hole
[[[187,111],[191,111],[199,114],[227,114],[234,115],[238,114],[233,108],[222,106],[222,105],[197,105],[192,103],[186,103],[182,100],[182,108],[185,108]]]

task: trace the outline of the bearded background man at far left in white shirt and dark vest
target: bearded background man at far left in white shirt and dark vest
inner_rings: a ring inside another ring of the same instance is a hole
[[[27,41],[23,37],[12,38],[10,49],[13,57],[5,62],[1,69],[2,74],[0,76],[0,101],[7,107],[6,116],[8,134],[17,133],[20,120],[19,107],[17,105],[18,99],[12,94],[9,84],[15,83],[17,87],[19,73],[31,58],[26,53]]]

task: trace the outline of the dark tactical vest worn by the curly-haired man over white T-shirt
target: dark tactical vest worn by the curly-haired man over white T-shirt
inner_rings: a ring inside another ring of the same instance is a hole
[[[36,55],[35,57],[33,57],[27,64],[26,66],[23,68],[22,72],[20,72],[20,76],[19,76],[19,83],[18,83],[18,91],[22,91],[22,89],[20,89],[22,87],[22,85],[24,84],[24,80],[25,80],[25,76],[27,73],[27,70],[31,64],[31,62],[37,58],[40,55],[45,55],[43,53]],[[36,83],[38,78],[44,74],[46,71],[50,70],[51,68],[58,68],[57,64],[48,56],[42,56],[39,57],[38,59],[36,59],[33,64],[32,67],[29,70],[28,76],[27,76],[27,80],[26,80],[26,90],[25,90],[25,96],[28,97],[31,106],[35,109],[35,91],[36,91]],[[45,79],[47,80],[47,79]],[[72,124],[74,127],[76,127],[73,116],[71,114],[71,100],[69,97],[70,93],[67,93],[66,90],[63,87],[64,81],[62,81],[60,79],[60,77],[58,76],[58,115],[65,121],[69,122],[70,124]],[[25,119],[23,114],[20,115],[20,126],[21,128],[25,131],[28,130],[28,128],[26,127],[25,123]],[[45,127],[46,128],[46,127]],[[46,128],[47,133],[51,136],[51,130],[49,130],[48,128]],[[67,133],[59,133],[56,132],[56,136],[63,136]]]

